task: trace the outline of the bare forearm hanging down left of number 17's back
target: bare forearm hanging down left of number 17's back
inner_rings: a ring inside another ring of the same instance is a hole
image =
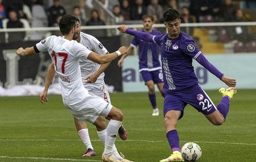
[[[48,89],[51,85],[51,82],[53,81],[54,75],[55,75],[55,70],[54,70],[53,62],[51,62],[51,64],[49,65],[48,71],[47,71],[47,75],[46,75],[45,89],[43,90],[43,92],[40,95],[41,103],[48,101],[47,93],[48,93]]]

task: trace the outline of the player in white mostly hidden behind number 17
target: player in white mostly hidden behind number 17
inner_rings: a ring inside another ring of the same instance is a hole
[[[94,51],[98,54],[109,54],[107,49],[98,41],[94,36],[88,35],[86,33],[80,32],[80,23],[76,22],[76,33],[74,35],[74,39],[77,40],[79,43],[90,49],[91,51]],[[88,59],[80,59],[80,68],[81,68],[81,74],[82,74],[82,82],[83,86],[88,90],[88,92],[91,95],[99,96],[108,103],[111,103],[109,98],[108,89],[106,88],[105,82],[104,82],[104,71],[109,66],[109,63],[106,64],[96,64],[93,61],[90,61]],[[45,90],[42,92],[41,96],[44,96],[44,94],[47,94],[49,86],[51,85],[51,82],[53,80],[55,74],[55,70],[53,67],[53,63],[49,66],[48,73],[46,76],[46,83],[45,83]],[[41,103],[44,103],[43,100],[41,100]],[[77,128],[77,132],[79,133],[79,136],[84,143],[85,147],[87,147],[87,151],[82,155],[83,157],[87,156],[96,156],[96,153],[93,149],[92,142],[90,141],[90,136],[88,134],[87,125],[83,121],[79,121],[74,117],[75,126]],[[106,137],[106,123],[103,116],[99,116],[96,119],[96,129],[98,130],[98,137],[101,139],[101,142],[105,143],[105,137]],[[127,138],[127,132],[126,129],[121,125],[121,127],[118,130],[119,136],[122,140],[126,140]],[[115,145],[113,146],[113,153],[116,155],[116,157],[119,160],[123,160],[123,156],[119,155]]]

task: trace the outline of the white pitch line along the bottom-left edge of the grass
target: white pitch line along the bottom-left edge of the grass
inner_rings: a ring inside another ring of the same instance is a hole
[[[18,156],[0,156],[0,158],[10,159],[35,159],[35,160],[65,160],[65,161],[101,161],[101,160],[86,160],[86,159],[66,159],[66,158],[44,158],[44,157],[18,157]]]

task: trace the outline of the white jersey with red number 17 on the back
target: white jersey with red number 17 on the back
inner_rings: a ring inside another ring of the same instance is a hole
[[[81,82],[79,59],[87,58],[92,51],[74,40],[49,36],[36,44],[38,51],[48,51],[58,73],[62,98],[77,98],[88,93]]]

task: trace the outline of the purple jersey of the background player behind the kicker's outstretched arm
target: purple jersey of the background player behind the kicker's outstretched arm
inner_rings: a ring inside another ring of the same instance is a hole
[[[143,32],[143,31],[142,31]],[[151,35],[161,35],[158,30],[153,30]],[[140,40],[137,37],[132,39],[132,47],[139,46],[139,68],[140,70],[158,70],[161,68],[159,61],[159,47],[155,43]]]

